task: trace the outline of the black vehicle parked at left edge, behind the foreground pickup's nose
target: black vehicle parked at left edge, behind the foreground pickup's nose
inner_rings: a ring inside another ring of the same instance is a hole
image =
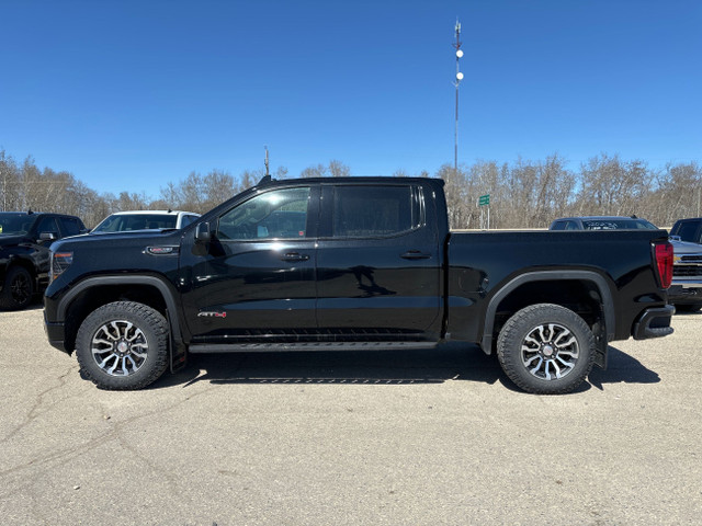
[[[0,309],[22,309],[48,284],[50,244],[86,232],[78,217],[0,211]]]

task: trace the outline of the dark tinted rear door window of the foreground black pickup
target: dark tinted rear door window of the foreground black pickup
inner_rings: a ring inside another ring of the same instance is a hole
[[[420,199],[412,186],[337,186],[332,236],[383,237],[420,225]]]

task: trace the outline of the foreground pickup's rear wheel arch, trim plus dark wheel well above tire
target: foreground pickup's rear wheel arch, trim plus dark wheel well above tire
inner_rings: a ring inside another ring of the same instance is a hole
[[[567,285],[567,287],[565,287]],[[536,299],[526,298],[530,291],[537,287],[543,287],[543,294]],[[553,302],[571,308],[566,301],[567,296],[564,290],[576,291],[578,297],[573,298],[577,302],[585,302],[595,308],[596,305],[600,316],[595,313],[595,318],[588,322],[600,336],[598,346],[605,354],[607,344],[614,339],[616,327],[614,299],[611,287],[604,276],[595,271],[537,271],[521,274],[509,281],[489,300],[483,327],[483,338],[480,347],[486,354],[491,354],[494,344],[497,341],[497,332],[502,323],[502,318],[509,317],[523,307],[533,304]],[[502,310],[501,310],[502,309]],[[573,309],[571,310],[577,310]],[[597,318],[597,319],[596,319]],[[595,328],[595,323],[603,327]],[[603,361],[598,361],[598,365],[604,366]]]

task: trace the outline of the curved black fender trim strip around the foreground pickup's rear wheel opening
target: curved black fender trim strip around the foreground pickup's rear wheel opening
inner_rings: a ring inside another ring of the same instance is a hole
[[[607,279],[601,274],[593,271],[539,271],[517,276],[500,288],[490,299],[485,312],[485,327],[483,329],[483,340],[480,341],[480,347],[483,347],[485,354],[490,354],[492,351],[495,315],[497,312],[497,307],[500,305],[502,299],[525,283],[565,279],[592,282],[597,287],[598,293],[602,298],[602,308],[604,310],[604,331],[607,332],[607,342],[603,342],[603,345],[607,347],[607,343],[614,339],[614,328],[616,327],[614,318],[614,300],[612,299],[612,293]]]

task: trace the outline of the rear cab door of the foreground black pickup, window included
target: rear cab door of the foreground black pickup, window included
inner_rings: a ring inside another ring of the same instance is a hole
[[[342,338],[432,340],[440,242],[416,184],[326,184],[317,249],[319,329]]]

